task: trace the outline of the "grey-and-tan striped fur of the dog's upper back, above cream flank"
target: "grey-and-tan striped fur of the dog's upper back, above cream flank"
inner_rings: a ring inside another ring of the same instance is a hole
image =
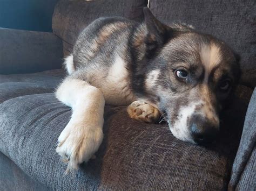
[[[109,66],[115,54],[127,53],[134,24],[119,17],[101,17],[92,22],[80,33],[72,54],[65,59],[69,74],[77,69],[93,70],[93,65]]]

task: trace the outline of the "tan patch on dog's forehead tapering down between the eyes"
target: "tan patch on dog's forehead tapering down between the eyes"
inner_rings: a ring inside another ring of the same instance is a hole
[[[213,68],[218,66],[222,59],[222,54],[220,47],[211,43],[210,45],[203,45],[200,50],[201,62],[205,67],[205,79],[208,81],[208,76],[210,75]]]

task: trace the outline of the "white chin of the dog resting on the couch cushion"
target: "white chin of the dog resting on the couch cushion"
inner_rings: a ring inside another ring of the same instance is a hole
[[[169,123],[169,129],[171,130],[172,135],[177,139],[182,140],[184,142],[196,144],[196,142],[194,142],[192,137],[190,136],[190,133],[184,130],[185,128],[178,128],[178,127],[172,126]]]

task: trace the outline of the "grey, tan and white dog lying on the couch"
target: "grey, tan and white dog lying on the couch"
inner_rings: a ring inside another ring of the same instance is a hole
[[[80,33],[65,59],[69,76],[56,97],[72,108],[56,151],[68,168],[89,160],[103,140],[104,104],[130,105],[130,117],[160,114],[176,138],[211,142],[219,114],[238,83],[231,49],[183,24],[166,26],[144,8],[145,22],[99,18]]]

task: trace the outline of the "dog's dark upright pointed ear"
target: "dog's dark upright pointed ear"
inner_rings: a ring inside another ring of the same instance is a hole
[[[172,29],[157,20],[149,8],[145,7],[143,11],[146,24],[146,34],[144,37],[146,54],[152,55],[170,39]]]

